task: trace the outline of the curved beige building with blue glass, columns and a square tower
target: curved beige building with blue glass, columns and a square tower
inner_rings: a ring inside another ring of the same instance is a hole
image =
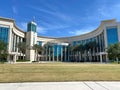
[[[8,44],[8,62],[16,62],[23,56],[31,62],[36,60],[106,62],[108,60],[106,48],[110,44],[120,42],[120,23],[115,19],[102,21],[100,26],[90,33],[63,38],[38,36],[37,24],[33,21],[26,27],[27,32],[18,28],[13,19],[0,17],[0,40]],[[28,47],[26,53],[22,55],[17,46],[20,42],[26,42]],[[44,47],[37,59],[32,48],[35,44]],[[89,44],[89,48],[86,46],[76,52],[71,50],[71,47],[80,44],[82,46]]]

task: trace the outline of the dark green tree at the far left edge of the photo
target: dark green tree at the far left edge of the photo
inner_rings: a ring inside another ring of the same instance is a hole
[[[4,41],[0,41],[0,61],[5,61],[7,59],[7,44]]]

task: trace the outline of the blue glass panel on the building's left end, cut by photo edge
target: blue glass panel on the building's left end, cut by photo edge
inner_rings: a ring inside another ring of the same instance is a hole
[[[8,43],[9,28],[0,27],[0,40]]]

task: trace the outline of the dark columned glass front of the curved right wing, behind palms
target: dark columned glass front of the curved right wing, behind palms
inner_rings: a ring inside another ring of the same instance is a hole
[[[68,49],[68,51],[70,50],[70,52],[67,52],[67,54],[69,53],[70,61],[99,61],[100,58],[96,53],[105,51],[104,31],[92,38],[73,41],[71,45],[76,46],[80,44],[83,45],[82,51],[72,51],[70,48]]]

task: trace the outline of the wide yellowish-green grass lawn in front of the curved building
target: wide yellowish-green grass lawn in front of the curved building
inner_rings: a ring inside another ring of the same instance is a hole
[[[120,64],[0,64],[0,82],[120,81]]]

